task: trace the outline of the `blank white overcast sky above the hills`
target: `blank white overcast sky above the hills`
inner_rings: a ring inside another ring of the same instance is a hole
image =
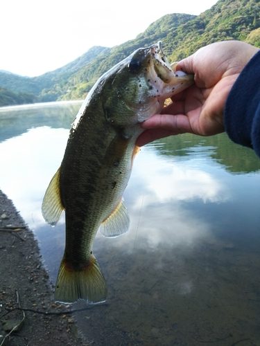
[[[200,15],[217,0],[2,0],[0,70],[33,77],[53,71],[92,46],[134,39],[168,13]]]

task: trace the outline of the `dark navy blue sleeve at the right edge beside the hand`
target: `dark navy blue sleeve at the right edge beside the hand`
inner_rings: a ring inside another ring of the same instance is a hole
[[[233,142],[260,157],[260,51],[245,66],[225,104],[224,126]]]

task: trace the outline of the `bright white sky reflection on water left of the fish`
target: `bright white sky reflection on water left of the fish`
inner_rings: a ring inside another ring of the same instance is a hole
[[[42,198],[58,170],[68,134],[67,129],[37,127],[0,145],[4,161],[0,172],[1,189],[33,228],[45,224]]]

